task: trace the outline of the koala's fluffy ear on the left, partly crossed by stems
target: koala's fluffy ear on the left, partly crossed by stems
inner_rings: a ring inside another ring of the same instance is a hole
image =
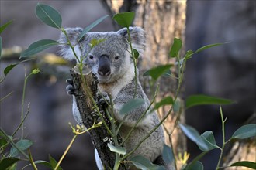
[[[70,40],[72,46],[74,46],[76,44],[76,42],[78,42],[78,37],[80,36],[82,30],[83,29],[81,29],[79,27],[65,29],[65,31],[67,32],[68,39]],[[63,45],[60,45],[60,55],[63,56],[65,59],[69,59],[69,60],[75,59],[74,53],[73,53],[71,47],[64,45],[64,44],[67,44],[67,37],[64,35],[63,32],[61,32],[61,36],[60,36],[60,39],[58,40],[58,42],[63,44]],[[81,56],[80,45],[81,44],[78,43],[74,47],[74,52],[77,54],[78,57]]]

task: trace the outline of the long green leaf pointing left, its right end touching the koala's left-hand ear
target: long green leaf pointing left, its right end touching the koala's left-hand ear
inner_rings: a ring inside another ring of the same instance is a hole
[[[42,39],[37,42],[33,42],[33,44],[31,44],[28,49],[26,49],[21,53],[20,58],[32,56],[36,53],[43,51],[44,49],[47,49],[51,46],[56,46],[58,44],[59,42],[51,39]]]

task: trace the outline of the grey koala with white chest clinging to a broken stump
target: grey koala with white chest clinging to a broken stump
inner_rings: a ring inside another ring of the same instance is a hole
[[[106,93],[106,96],[112,97],[114,106],[114,118],[117,122],[123,121],[123,114],[119,114],[119,110],[124,104],[133,99],[137,81],[136,98],[144,99],[145,102],[140,107],[132,110],[126,115],[120,128],[120,135],[122,138],[126,138],[130,129],[136,124],[137,120],[147,110],[150,105],[140,82],[135,79],[133,59],[130,52],[130,46],[128,43],[127,29],[119,29],[117,32],[88,32],[77,43],[83,29],[81,28],[67,28],[65,29],[67,36],[69,37],[71,44],[75,45],[74,50],[78,57],[85,56],[84,63],[89,66],[92,73],[97,76],[99,80],[98,89],[101,93]],[[144,30],[140,27],[130,27],[130,39],[134,49],[142,55],[144,52]],[[92,39],[106,39],[100,42],[99,45],[93,47],[89,43]],[[61,43],[67,43],[67,39],[63,33],[61,33]],[[61,56],[66,59],[75,59],[74,54],[69,46],[61,46]],[[137,71],[138,74],[138,71]],[[67,93],[74,94],[74,87],[69,80],[70,85],[67,86]],[[74,98],[74,97],[73,97]],[[75,99],[73,100],[73,114],[74,119],[78,124],[82,124],[81,116],[78,111]],[[156,113],[148,113],[144,116],[144,119],[137,124],[134,128],[130,138],[125,142],[124,147],[126,153],[133,150],[137,146],[138,142],[144,138],[157,124],[159,119]],[[151,162],[155,162],[161,158],[161,153],[164,146],[164,131],[160,126],[157,128],[150,137],[147,138],[139,148],[130,156],[132,158],[135,155],[142,155],[148,158]],[[98,152],[95,150],[95,159],[99,169],[102,167]]]

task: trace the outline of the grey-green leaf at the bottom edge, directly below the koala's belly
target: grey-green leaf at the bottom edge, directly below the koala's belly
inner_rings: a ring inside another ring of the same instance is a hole
[[[164,170],[165,168],[163,166],[155,165],[150,160],[143,156],[135,156],[130,159],[130,162],[133,163],[133,165],[136,166],[138,169],[150,169],[150,170]]]

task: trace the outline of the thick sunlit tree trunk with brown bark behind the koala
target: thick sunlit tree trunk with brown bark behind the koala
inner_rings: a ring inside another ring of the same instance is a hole
[[[174,60],[168,56],[169,50],[173,43],[173,39],[177,37],[185,40],[185,10],[186,1],[170,0],[170,1],[147,1],[147,0],[102,0],[109,6],[109,11],[112,14],[119,12],[136,12],[134,19],[134,26],[141,26],[146,32],[146,49],[139,61],[140,73],[149,70],[153,66],[166,63],[174,63]],[[174,69],[173,73],[177,73]],[[143,82],[145,82],[143,80]],[[177,88],[177,80],[172,78],[161,78],[160,93],[158,100],[165,96],[174,96]],[[142,83],[145,84],[145,83]],[[150,96],[149,86],[147,85],[144,90]],[[182,101],[182,100],[181,100]],[[164,107],[159,111],[160,117],[167,114],[170,107]],[[182,112],[184,112],[182,110]],[[178,152],[186,151],[185,136],[178,128],[174,127],[178,121],[184,122],[185,116],[181,114],[171,114],[164,122],[164,129],[166,134],[166,143],[172,144],[175,155]],[[172,133],[173,132],[173,133]],[[171,138],[170,138],[171,137]],[[171,141],[170,141],[171,140]]]

